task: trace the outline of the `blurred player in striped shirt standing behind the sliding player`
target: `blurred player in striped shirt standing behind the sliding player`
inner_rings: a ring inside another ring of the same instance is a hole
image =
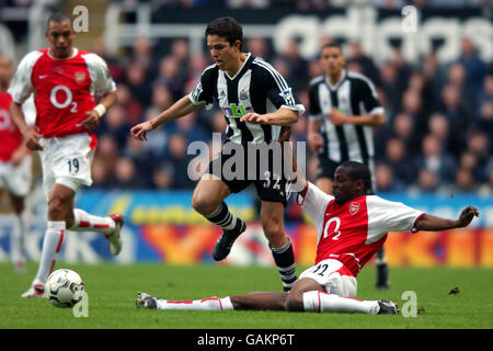
[[[322,46],[320,66],[323,75],[311,80],[308,90],[308,145],[318,152],[316,184],[332,194],[334,172],[347,160],[363,162],[375,173],[372,127],[386,123],[372,82],[346,70],[342,48],[336,43]],[[369,193],[375,193],[372,176]],[[388,265],[383,247],[377,252],[376,288],[388,287]]]

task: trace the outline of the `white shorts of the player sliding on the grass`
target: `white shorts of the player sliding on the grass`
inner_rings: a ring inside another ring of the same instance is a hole
[[[329,294],[343,297],[356,297],[358,284],[356,278],[348,275],[347,268],[337,260],[323,260],[305,270],[299,279],[310,278],[323,287]]]

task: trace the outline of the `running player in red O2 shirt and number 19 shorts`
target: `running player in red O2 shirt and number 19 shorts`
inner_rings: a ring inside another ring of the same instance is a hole
[[[45,36],[49,47],[27,54],[9,88],[12,118],[26,146],[39,151],[48,200],[39,268],[23,297],[44,295],[44,283],[53,271],[67,229],[103,233],[113,254],[122,250],[122,215],[98,217],[73,207],[79,188],[92,184],[91,162],[98,140],[91,129],[115,103],[115,82],[101,57],[72,46],[76,33],[66,14],[56,13],[48,19]],[[103,95],[98,105],[96,91]],[[35,127],[26,125],[21,110],[31,93],[35,94]]]

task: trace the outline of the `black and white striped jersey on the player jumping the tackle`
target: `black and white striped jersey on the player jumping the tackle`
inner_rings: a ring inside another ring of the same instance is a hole
[[[280,132],[279,125],[240,122],[244,114],[265,114],[282,106],[296,111],[298,115],[305,112],[279,72],[250,53],[234,77],[229,77],[216,64],[207,67],[188,98],[192,103],[206,103],[208,107],[217,101],[228,123],[227,137],[242,145],[277,140]]]

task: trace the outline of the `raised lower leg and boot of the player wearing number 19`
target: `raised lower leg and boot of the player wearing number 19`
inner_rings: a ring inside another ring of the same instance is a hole
[[[110,242],[110,251],[117,256],[122,251],[123,241],[119,235],[125,218],[122,214],[113,214],[107,217],[99,217],[87,213],[83,210],[73,210],[73,231],[98,231],[104,234]]]

